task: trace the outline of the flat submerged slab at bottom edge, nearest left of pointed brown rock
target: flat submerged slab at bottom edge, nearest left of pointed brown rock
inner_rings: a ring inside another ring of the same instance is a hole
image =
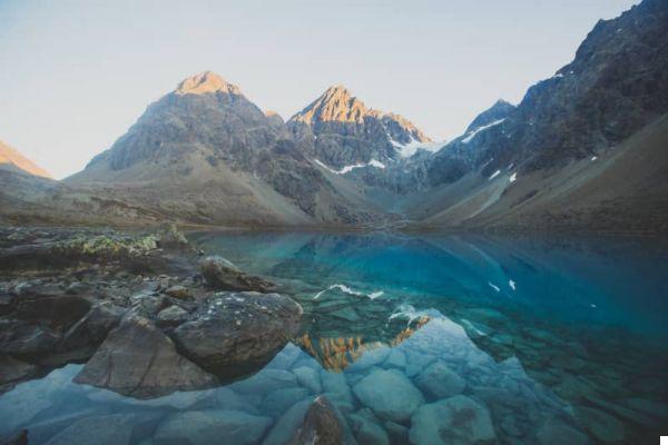
[[[271,417],[240,411],[204,409],[174,413],[156,429],[156,445],[254,444],[272,424]]]

